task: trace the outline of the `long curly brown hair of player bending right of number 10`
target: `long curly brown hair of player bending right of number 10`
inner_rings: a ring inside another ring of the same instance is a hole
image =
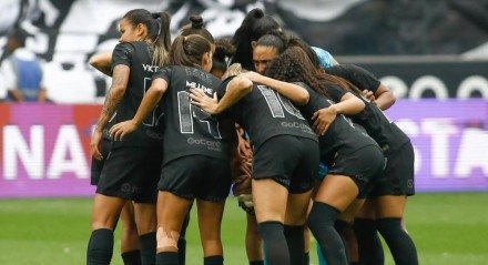
[[[354,94],[360,92],[348,81],[315,68],[307,53],[295,45],[287,48],[266,67],[266,75],[287,82],[303,82],[329,99],[327,91],[331,85]]]

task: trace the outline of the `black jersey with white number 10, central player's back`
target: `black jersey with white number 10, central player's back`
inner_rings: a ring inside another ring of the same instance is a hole
[[[222,82],[218,99],[226,92],[232,78]],[[253,144],[254,152],[268,139],[276,135],[294,135],[317,140],[302,113],[285,96],[266,85],[254,83],[251,93],[243,96],[225,113],[242,125]]]

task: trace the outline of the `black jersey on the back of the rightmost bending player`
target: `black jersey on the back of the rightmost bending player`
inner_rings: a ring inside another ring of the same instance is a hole
[[[328,86],[328,94],[335,102],[340,102],[340,99],[346,93],[337,86]],[[382,147],[383,151],[397,150],[410,139],[392,121],[386,118],[379,108],[358,95],[364,103],[365,109],[357,114],[349,115],[353,122],[362,125],[366,132],[372,136]]]

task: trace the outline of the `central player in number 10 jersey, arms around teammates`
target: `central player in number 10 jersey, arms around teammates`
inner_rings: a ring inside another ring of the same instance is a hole
[[[240,71],[240,65],[227,70],[233,74],[222,83],[218,103],[216,98],[205,96],[197,90],[192,91],[193,103],[209,113],[231,116],[246,130],[254,150],[254,211],[267,262],[271,265],[302,264],[303,225],[318,169],[317,139],[285,98],[286,93],[282,95],[245,77],[235,77]],[[297,104],[307,102],[305,89],[274,82],[279,92],[278,88],[286,86],[299,91]],[[293,233],[284,233],[284,230]],[[285,237],[285,234],[294,236]]]

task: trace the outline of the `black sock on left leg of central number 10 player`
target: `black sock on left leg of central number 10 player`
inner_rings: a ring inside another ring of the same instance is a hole
[[[289,265],[289,253],[286,244],[283,224],[268,221],[257,224],[257,231],[264,243],[267,265]]]

